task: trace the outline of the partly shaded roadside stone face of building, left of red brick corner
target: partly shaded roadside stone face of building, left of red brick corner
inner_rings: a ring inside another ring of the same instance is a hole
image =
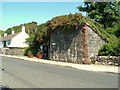
[[[50,39],[50,59],[80,63],[82,57],[82,29],[55,30]]]

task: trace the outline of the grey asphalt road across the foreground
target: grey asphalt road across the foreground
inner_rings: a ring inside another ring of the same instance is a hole
[[[118,88],[118,75],[2,57],[9,88]]]

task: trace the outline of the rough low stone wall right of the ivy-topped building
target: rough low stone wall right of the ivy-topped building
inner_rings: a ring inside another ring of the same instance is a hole
[[[92,64],[120,66],[120,56],[95,56],[90,59]]]

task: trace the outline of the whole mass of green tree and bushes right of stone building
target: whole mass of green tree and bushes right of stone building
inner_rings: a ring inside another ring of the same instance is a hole
[[[98,31],[108,43],[100,48],[99,55],[120,55],[120,2],[85,2],[84,7],[77,8],[104,26]]]

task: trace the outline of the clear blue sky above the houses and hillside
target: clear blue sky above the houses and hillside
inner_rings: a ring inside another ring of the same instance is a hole
[[[82,2],[2,2],[2,27],[8,29],[36,21],[44,23],[55,16],[79,12]],[[85,13],[84,13],[85,15]],[[0,18],[1,19],[1,18]]]

